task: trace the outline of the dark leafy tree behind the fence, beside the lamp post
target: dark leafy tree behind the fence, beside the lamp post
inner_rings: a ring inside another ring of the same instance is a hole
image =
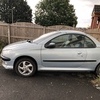
[[[6,23],[31,22],[32,9],[26,0],[0,0],[0,20]]]

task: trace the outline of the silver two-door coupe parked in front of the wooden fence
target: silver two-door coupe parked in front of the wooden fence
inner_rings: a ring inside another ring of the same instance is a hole
[[[100,75],[100,42],[73,30],[44,34],[10,44],[1,53],[2,65],[28,77],[36,71],[94,71]]]

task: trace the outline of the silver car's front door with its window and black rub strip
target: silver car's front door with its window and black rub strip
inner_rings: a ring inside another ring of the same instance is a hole
[[[41,56],[44,68],[47,70],[75,70],[75,68],[81,67],[87,53],[78,44],[79,36],[78,34],[64,34],[43,45]],[[55,47],[49,47],[53,43]]]

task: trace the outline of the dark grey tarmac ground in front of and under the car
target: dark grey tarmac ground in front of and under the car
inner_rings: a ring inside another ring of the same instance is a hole
[[[89,73],[38,72],[23,78],[0,67],[0,100],[100,100]]]

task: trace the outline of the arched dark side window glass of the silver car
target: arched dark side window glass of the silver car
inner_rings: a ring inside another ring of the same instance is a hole
[[[64,34],[50,40],[45,44],[47,48],[50,43],[55,44],[55,48],[94,48],[94,42],[80,34]]]

